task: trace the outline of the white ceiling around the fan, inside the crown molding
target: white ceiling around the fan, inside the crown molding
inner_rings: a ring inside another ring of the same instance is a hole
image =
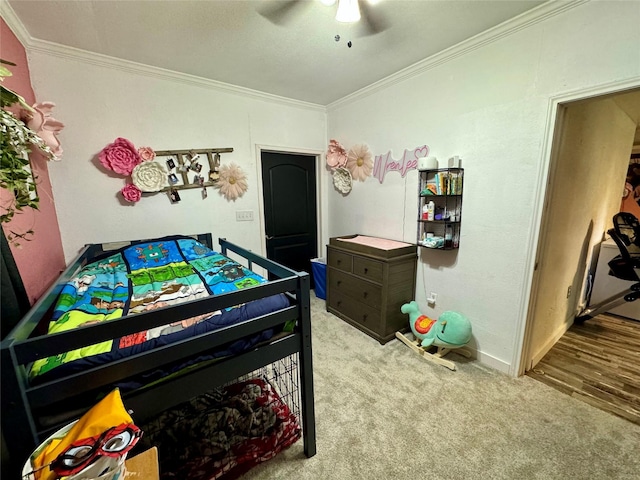
[[[272,0],[8,3],[32,39],[319,105],[545,3],[377,1],[373,11],[388,28],[375,35],[363,35],[362,22],[337,22],[336,5],[319,0],[300,0],[284,25],[259,14]]]

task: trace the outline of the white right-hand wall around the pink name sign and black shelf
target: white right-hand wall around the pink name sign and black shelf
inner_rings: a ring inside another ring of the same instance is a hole
[[[459,251],[422,249],[416,299],[427,315],[456,310],[472,322],[478,357],[515,373],[546,175],[552,97],[640,85],[640,2],[591,2],[486,44],[469,43],[416,76],[337,102],[328,136],[374,155],[427,144],[441,166],[465,168]],[[428,62],[426,62],[429,65]],[[417,175],[389,173],[343,197],[329,189],[329,236],[416,239]],[[426,305],[438,293],[435,309]]]

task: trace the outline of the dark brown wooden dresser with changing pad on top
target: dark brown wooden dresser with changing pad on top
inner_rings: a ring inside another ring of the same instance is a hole
[[[327,311],[385,344],[408,330],[402,304],[415,298],[417,246],[350,235],[327,245]]]

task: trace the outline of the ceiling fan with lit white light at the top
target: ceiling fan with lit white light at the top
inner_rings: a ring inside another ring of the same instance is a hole
[[[375,12],[367,0],[320,0],[327,6],[338,3],[336,20],[344,23],[356,23],[362,20],[365,35],[375,35],[388,28],[385,19]],[[264,2],[270,4],[258,10],[258,13],[276,25],[289,23],[312,2],[308,0],[286,0],[282,2]]]

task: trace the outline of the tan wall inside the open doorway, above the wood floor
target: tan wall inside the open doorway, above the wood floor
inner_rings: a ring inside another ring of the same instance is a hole
[[[586,307],[639,125],[637,84],[558,104],[519,374],[531,370]]]

